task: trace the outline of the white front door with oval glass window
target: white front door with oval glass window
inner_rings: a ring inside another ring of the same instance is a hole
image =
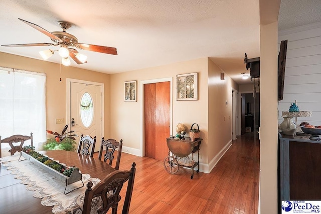
[[[70,81],[69,127],[81,134],[96,136],[95,152],[99,151],[102,133],[102,86],[90,82]],[[77,146],[79,139],[77,140]]]

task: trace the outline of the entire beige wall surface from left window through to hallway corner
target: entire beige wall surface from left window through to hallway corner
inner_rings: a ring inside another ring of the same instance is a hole
[[[211,170],[208,167],[209,162],[217,157],[231,140],[231,87],[236,88],[237,84],[228,75],[221,81],[221,70],[208,58],[107,75],[65,66],[61,66],[60,71],[59,64],[0,52],[0,66],[46,73],[46,123],[49,130],[60,131],[66,124],[55,124],[55,118],[66,120],[66,78],[104,83],[105,130],[102,135],[123,139],[125,149],[138,151],[143,143],[140,81],[172,78],[172,131],[176,132],[176,125],[179,122],[184,123],[187,129],[190,129],[193,123],[199,125],[203,138],[200,150],[203,171]],[[198,72],[198,100],[177,101],[176,75],[194,72]],[[124,82],[130,80],[137,80],[137,102],[124,102]],[[227,106],[225,100],[228,101]],[[211,138],[208,137],[209,130]],[[188,131],[187,136],[189,136]]]

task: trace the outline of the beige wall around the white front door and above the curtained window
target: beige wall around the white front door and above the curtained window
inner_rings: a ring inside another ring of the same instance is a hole
[[[104,134],[110,135],[110,75],[75,67],[61,66],[42,60],[21,57],[0,52],[0,67],[15,68],[46,73],[46,126],[47,129],[61,132],[66,122],[66,78],[104,83]],[[62,81],[60,81],[60,78]],[[64,118],[64,123],[55,124],[56,118]]]

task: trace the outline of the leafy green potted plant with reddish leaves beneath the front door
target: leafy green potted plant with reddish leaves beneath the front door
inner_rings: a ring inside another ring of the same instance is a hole
[[[77,134],[72,134],[75,131],[66,132],[68,124],[64,127],[61,134],[58,132],[53,132],[47,130],[47,133],[55,135],[54,138],[48,138],[47,143],[43,146],[44,150],[66,150],[66,151],[75,151],[76,150],[76,139]]]

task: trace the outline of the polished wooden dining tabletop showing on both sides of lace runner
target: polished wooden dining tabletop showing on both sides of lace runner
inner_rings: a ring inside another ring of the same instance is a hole
[[[76,166],[82,174],[90,174],[90,177],[100,180],[115,170],[104,161],[77,152],[53,150],[39,153],[67,166]],[[53,206],[42,205],[41,198],[33,197],[33,191],[27,190],[26,185],[20,182],[0,163],[0,213],[52,213]]]

